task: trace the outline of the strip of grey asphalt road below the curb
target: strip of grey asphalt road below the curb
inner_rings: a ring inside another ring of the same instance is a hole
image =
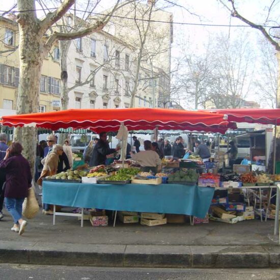
[[[279,280],[280,269],[105,268],[0,264],[1,280]]]

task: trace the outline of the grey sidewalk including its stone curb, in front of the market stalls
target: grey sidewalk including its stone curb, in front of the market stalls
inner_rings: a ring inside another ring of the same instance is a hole
[[[167,224],[147,227],[117,222],[92,227],[76,217],[39,213],[23,236],[11,232],[7,212],[0,221],[0,262],[126,267],[280,267],[273,220],[230,225]],[[19,254],[20,253],[20,254]]]

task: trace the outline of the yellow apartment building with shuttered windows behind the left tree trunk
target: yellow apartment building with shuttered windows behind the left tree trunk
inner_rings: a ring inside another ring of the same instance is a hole
[[[0,18],[0,110],[15,114],[19,80],[19,34],[15,20]],[[39,112],[60,109],[59,49],[54,46],[44,59]],[[3,115],[4,115],[3,114]]]

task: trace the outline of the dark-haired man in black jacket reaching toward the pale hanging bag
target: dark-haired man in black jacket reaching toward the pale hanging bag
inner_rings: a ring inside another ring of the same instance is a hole
[[[90,166],[105,164],[106,156],[116,153],[120,149],[121,147],[117,147],[116,149],[110,149],[109,144],[107,143],[106,132],[101,132],[99,134],[99,141],[93,148]]]

